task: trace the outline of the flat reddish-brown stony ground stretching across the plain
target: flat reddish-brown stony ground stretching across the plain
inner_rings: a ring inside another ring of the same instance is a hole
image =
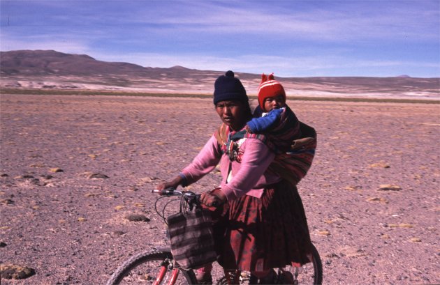
[[[1,284],[103,284],[163,244],[149,190],[220,123],[199,98],[3,94],[0,104],[0,261],[36,272]],[[440,105],[288,104],[318,132],[298,188],[325,284],[439,284]],[[217,183],[214,171],[191,190]]]

